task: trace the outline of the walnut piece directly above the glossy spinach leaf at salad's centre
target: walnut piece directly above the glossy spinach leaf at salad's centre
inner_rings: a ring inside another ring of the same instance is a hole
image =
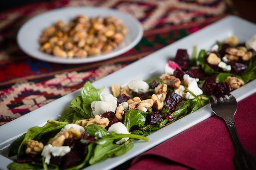
[[[129,104],[130,109],[137,109],[145,112],[154,104],[153,99],[140,100],[139,97],[134,97],[134,99],[130,99],[127,102]]]

